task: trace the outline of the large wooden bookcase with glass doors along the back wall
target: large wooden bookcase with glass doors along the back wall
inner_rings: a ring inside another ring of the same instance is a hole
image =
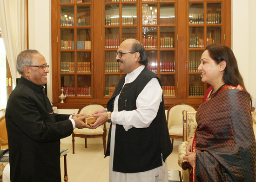
[[[198,78],[207,44],[231,46],[230,0],[52,0],[53,104],[106,104],[124,73],[119,44],[140,40],[161,79],[165,107],[198,107],[209,87]],[[65,103],[58,96],[67,91]]]

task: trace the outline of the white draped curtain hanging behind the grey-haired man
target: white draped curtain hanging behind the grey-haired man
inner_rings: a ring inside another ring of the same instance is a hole
[[[16,59],[27,49],[26,0],[0,0],[0,28],[10,65],[13,84],[20,74],[16,70]]]

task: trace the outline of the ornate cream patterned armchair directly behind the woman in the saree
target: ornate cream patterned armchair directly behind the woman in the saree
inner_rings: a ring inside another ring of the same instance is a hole
[[[195,120],[196,111],[186,111],[183,110],[183,142],[179,145],[178,148],[178,164],[182,167],[182,180],[183,182],[189,182],[190,180],[190,169],[191,166],[183,157],[186,154],[186,147],[189,143],[191,137],[195,135],[195,129],[197,123]],[[253,121],[253,130],[256,136],[256,112],[251,112],[252,121]]]

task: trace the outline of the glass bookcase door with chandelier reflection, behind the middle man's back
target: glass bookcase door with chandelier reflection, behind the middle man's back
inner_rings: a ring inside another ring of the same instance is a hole
[[[145,2],[141,5],[141,38],[147,52],[147,67],[161,79],[163,94],[166,97],[176,96],[175,5],[175,1],[170,3],[165,0]]]

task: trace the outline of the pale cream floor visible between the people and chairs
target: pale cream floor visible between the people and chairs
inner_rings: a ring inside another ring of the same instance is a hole
[[[68,182],[108,182],[109,157],[104,158],[103,144],[75,144],[75,153],[72,153],[72,144],[61,144],[67,148],[67,175]],[[182,170],[178,165],[178,145],[174,145],[173,152],[168,156],[168,169]],[[61,178],[64,176],[64,159],[61,158]]]

